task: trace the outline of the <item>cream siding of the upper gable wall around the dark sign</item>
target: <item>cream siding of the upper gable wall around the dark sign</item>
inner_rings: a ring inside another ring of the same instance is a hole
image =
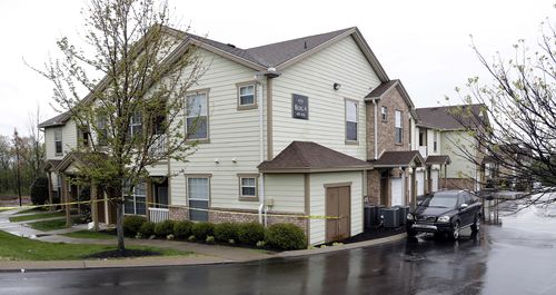
[[[339,90],[332,83],[341,85]],[[366,159],[364,97],[380,83],[351,37],[292,65],[274,79],[274,156],[292,140],[315,141]],[[291,95],[309,97],[309,119],[291,118]],[[358,145],[346,145],[345,99],[358,101]]]

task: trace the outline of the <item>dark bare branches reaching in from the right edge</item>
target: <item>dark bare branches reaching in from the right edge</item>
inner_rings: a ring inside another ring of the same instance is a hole
[[[519,40],[509,59],[498,55],[488,61],[473,46],[493,82],[475,77],[467,94],[456,89],[469,105],[481,104],[483,112],[453,109],[481,153],[461,153],[488,175],[481,185],[525,190],[534,196],[530,204],[555,201],[543,196],[556,193],[556,31],[549,23],[542,28],[538,49]]]

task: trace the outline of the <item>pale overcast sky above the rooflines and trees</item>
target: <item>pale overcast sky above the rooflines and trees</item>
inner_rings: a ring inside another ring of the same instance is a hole
[[[28,134],[28,116],[40,106],[43,119],[52,86],[29,69],[56,53],[56,40],[80,42],[80,0],[1,0],[0,134],[17,127]],[[178,1],[170,0],[182,24],[208,38],[249,48],[357,26],[390,79],[399,78],[416,107],[445,104],[456,86],[484,69],[469,35],[485,56],[509,56],[525,39],[534,46],[539,23],[554,14],[554,1],[508,0],[341,0],[341,1]],[[554,19],[553,19],[554,21]]]

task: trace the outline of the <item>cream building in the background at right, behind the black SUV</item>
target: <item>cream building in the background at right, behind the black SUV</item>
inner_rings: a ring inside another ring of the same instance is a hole
[[[454,108],[466,108],[465,116],[469,118],[456,119],[457,111],[451,111]],[[481,128],[476,128],[480,125],[466,121],[484,118],[483,124],[488,125],[488,116],[483,108],[484,105],[468,105],[416,109],[419,121],[414,147],[430,164],[425,178],[430,179],[429,187],[433,190],[436,187],[469,190],[481,188],[480,163],[485,153],[480,151],[479,142],[469,134],[469,129],[481,131]],[[470,160],[470,157],[475,157],[475,160]],[[449,167],[446,164],[450,164]]]

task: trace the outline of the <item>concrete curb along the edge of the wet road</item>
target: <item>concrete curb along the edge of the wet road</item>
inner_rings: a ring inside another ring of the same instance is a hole
[[[2,262],[0,273],[8,272],[41,272],[41,271],[70,271],[70,269],[101,269],[101,268],[130,268],[130,267],[160,267],[160,266],[195,266],[195,265],[224,265],[224,264],[240,264],[252,263],[258,260],[302,257],[309,255],[328,254],[335,252],[344,252],[355,248],[381,246],[387,244],[397,243],[406,238],[406,233],[397,234],[389,237],[383,237],[371,240],[358,242],[353,244],[330,246],[326,248],[289,250],[278,253],[271,257],[261,259],[244,259],[244,260],[228,260],[208,255],[193,254],[197,257],[177,258],[172,256],[166,257],[142,257],[142,258],[122,258],[116,260],[8,260]],[[6,266],[6,264],[11,264]]]

